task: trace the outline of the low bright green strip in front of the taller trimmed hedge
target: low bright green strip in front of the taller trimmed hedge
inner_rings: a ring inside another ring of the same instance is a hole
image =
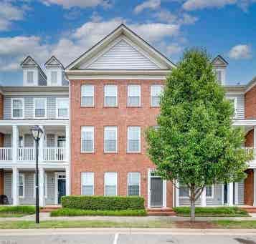
[[[60,208],[51,212],[52,217],[57,216],[146,216],[146,210],[80,210],[75,208]]]

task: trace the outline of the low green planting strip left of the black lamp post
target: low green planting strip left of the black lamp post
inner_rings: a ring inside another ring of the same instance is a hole
[[[0,218],[22,217],[34,213],[34,206],[0,206]]]

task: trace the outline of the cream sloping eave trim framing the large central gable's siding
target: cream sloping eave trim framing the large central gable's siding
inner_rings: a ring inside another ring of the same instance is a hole
[[[68,70],[74,70],[74,69],[80,69],[81,64],[84,64],[85,62],[88,62],[90,59],[93,59],[95,56],[97,56],[100,52],[103,52],[103,49],[108,47],[111,43],[113,43],[118,37],[124,36],[129,41],[133,42],[134,44],[138,45],[140,47],[141,51],[148,54],[152,59],[154,59],[158,64],[161,64],[162,67],[165,67],[163,69],[172,69],[175,66],[173,62],[171,62],[167,57],[165,57],[163,54],[158,52],[154,47],[152,47],[148,42],[146,42],[144,39],[142,39],[140,36],[138,36],[136,33],[131,31],[125,24],[120,24],[115,30],[113,30],[110,34],[105,36],[100,42],[95,44],[93,47],[87,50],[84,54],[82,54],[80,57],[75,59],[72,63],[67,65],[65,68],[66,71]],[[159,65],[158,65],[159,66]]]

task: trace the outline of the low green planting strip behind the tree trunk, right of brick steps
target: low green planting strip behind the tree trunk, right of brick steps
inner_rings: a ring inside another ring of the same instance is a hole
[[[178,216],[189,216],[189,207],[177,207],[174,211]],[[250,216],[245,210],[237,207],[196,207],[196,216],[200,217],[247,217]]]

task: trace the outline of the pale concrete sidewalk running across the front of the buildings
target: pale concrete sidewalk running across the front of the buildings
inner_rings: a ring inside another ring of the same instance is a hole
[[[211,221],[211,220],[256,220],[256,214],[250,214],[250,217],[196,217],[196,221]],[[49,213],[40,213],[39,218],[41,221],[45,220],[100,220],[100,221],[111,221],[111,222],[148,222],[148,221],[186,221],[189,217],[178,217],[178,216],[145,216],[145,217],[135,217],[135,216],[74,216],[74,217],[50,217]],[[0,218],[0,221],[19,221],[19,220],[31,220],[35,219],[35,215],[27,215],[20,218]]]

